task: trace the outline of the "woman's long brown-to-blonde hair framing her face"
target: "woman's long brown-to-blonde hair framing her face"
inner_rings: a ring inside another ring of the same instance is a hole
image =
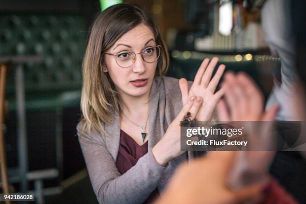
[[[148,14],[135,4],[120,3],[101,12],[90,28],[87,47],[82,62],[83,85],[81,111],[83,132],[96,130],[107,134],[102,122],[112,123],[112,113],[120,114],[120,101],[107,72],[103,72],[104,52],[118,38],[140,23],[153,32],[156,44],[161,45],[155,76],[164,75],[168,68],[167,48]]]

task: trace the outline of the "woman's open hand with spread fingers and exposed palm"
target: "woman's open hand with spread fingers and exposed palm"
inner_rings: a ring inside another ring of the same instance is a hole
[[[212,112],[217,102],[224,94],[224,87],[220,88],[216,92],[215,89],[224,72],[225,65],[219,65],[214,76],[211,78],[212,72],[217,61],[217,57],[213,57],[210,62],[208,58],[203,60],[199,69],[196,72],[190,90],[188,90],[188,83],[185,78],[181,78],[179,80],[179,87],[182,94],[183,104],[191,95],[200,96],[203,98],[202,105],[199,108],[197,115],[195,116],[195,120],[197,121],[207,121],[211,119]]]

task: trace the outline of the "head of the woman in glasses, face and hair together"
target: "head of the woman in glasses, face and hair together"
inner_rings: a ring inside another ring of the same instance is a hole
[[[158,59],[152,60],[156,53]],[[147,94],[153,78],[163,75],[167,66],[164,42],[142,8],[120,3],[101,12],[90,28],[82,64],[81,110],[86,131],[91,127],[104,131],[101,120],[110,123],[112,110],[119,114],[120,96]]]

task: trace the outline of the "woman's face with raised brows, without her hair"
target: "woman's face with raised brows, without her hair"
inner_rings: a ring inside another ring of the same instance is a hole
[[[156,43],[151,29],[144,24],[139,24],[123,34],[112,47],[106,50],[106,53],[120,53],[118,57],[121,57],[120,59],[123,60],[128,56],[124,52],[132,51],[139,53],[143,50],[145,50],[144,52],[149,52],[150,50],[146,50],[146,48],[155,45]],[[134,63],[131,66],[121,67],[116,62],[116,56],[105,54],[104,59],[106,67],[103,67],[103,71],[109,73],[121,97],[124,95],[143,96],[149,93],[157,60],[148,63],[142,59],[140,54],[136,54]]]

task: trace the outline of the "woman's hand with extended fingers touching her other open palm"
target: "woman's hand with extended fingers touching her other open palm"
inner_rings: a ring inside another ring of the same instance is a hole
[[[184,119],[187,112],[190,112],[190,119],[194,119],[201,104],[202,97],[190,96],[186,99],[178,115],[171,122],[165,134],[152,148],[152,154],[160,165],[165,165],[169,160],[179,156],[184,151],[180,150],[180,121]],[[192,139],[192,137],[190,137]],[[197,140],[197,138],[194,138]]]

